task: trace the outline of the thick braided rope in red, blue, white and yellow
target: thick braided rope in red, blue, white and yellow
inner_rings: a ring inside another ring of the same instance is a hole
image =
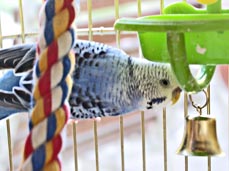
[[[40,13],[39,55],[34,66],[30,133],[25,142],[23,171],[59,171],[60,132],[69,115],[68,97],[75,56],[71,24],[74,0],[47,0]]]

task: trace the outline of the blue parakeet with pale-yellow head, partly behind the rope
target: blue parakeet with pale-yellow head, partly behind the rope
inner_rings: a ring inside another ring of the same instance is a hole
[[[134,58],[92,41],[74,44],[75,69],[69,98],[72,119],[117,116],[175,103],[181,89],[169,64]],[[0,50],[0,119],[32,109],[35,44]]]

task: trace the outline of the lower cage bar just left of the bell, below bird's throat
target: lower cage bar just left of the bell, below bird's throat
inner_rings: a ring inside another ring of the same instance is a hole
[[[163,145],[164,145],[164,171],[167,171],[167,130],[166,130],[166,108],[163,108]]]

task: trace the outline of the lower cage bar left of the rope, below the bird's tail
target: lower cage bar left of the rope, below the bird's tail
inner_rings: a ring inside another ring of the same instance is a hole
[[[13,152],[12,152],[12,141],[11,141],[11,131],[10,131],[10,120],[6,120],[6,128],[7,128],[7,141],[8,141],[8,152],[9,152],[9,164],[10,171],[13,171]]]

